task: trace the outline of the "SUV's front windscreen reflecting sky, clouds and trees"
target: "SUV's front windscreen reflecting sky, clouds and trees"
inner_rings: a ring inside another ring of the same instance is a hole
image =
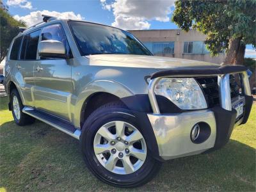
[[[90,54],[152,55],[131,33],[120,29],[70,21],[77,46],[82,56]]]

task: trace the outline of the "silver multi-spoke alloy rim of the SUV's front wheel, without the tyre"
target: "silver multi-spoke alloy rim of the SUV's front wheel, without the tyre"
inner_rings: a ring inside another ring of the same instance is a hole
[[[95,134],[93,149],[104,168],[121,175],[139,170],[147,157],[147,145],[141,132],[123,121],[100,127]]]

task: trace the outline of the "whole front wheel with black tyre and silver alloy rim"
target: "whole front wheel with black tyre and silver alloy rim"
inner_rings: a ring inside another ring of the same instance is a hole
[[[150,181],[161,163],[148,152],[136,117],[118,103],[96,109],[83,125],[80,143],[84,161],[100,180],[121,188]]]

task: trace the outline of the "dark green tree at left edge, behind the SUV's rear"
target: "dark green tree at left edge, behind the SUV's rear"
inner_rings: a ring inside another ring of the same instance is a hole
[[[10,13],[8,7],[0,1],[0,62],[3,61],[7,54],[12,39],[18,35],[19,27],[25,27],[24,22],[15,20]]]

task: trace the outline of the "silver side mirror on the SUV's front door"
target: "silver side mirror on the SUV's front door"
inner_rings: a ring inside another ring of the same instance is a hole
[[[39,56],[44,58],[68,58],[65,46],[56,40],[39,42],[38,52]]]

